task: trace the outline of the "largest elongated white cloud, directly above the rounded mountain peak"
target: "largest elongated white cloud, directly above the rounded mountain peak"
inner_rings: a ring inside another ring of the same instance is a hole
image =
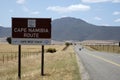
[[[58,13],[68,13],[68,12],[74,12],[74,11],[87,11],[89,9],[90,9],[90,6],[83,5],[83,4],[70,5],[70,6],[66,6],[66,7],[50,6],[47,8],[47,10],[55,11]]]

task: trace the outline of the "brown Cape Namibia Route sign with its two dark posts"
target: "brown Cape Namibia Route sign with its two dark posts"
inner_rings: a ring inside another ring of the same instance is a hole
[[[21,45],[42,45],[41,75],[43,76],[44,45],[51,44],[51,18],[12,18],[11,43],[19,45],[19,79],[21,79]]]

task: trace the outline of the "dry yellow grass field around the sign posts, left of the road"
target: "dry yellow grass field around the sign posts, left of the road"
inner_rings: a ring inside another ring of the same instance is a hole
[[[72,46],[67,50],[62,49],[65,45],[49,45],[48,48],[55,48],[56,53],[45,53],[45,76],[41,76],[41,54],[22,58],[22,79],[21,80],[81,80],[76,56]],[[0,55],[17,54],[18,46],[0,44]],[[41,46],[22,46],[22,52],[41,51]],[[5,53],[4,53],[5,52]],[[14,53],[13,53],[14,52]],[[0,63],[0,80],[18,80],[18,61],[11,60]]]

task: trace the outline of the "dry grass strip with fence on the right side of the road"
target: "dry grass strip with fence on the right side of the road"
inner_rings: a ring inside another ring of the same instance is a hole
[[[89,47],[97,51],[120,53],[120,47],[118,45],[89,45]]]

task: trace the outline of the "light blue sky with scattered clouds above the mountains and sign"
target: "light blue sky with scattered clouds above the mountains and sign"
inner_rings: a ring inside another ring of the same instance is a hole
[[[1,0],[0,26],[12,17],[75,17],[100,26],[120,26],[120,0]]]

